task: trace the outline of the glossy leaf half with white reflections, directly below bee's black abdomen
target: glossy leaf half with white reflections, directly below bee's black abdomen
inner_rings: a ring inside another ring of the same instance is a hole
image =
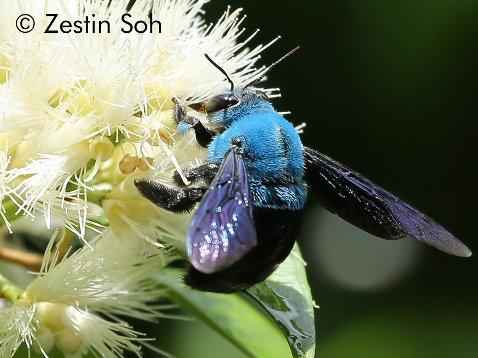
[[[294,358],[315,356],[314,304],[304,266],[296,244],[267,280],[245,292],[274,320]]]

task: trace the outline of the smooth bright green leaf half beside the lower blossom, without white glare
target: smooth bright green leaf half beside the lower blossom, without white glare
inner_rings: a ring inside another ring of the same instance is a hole
[[[255,304],[240,294],[194,291],[181,282],[179,269],[165,268],[154,274],[169,288],[169,298],[211,327],[251,358],[290,358],[287,342],[277,327]]]

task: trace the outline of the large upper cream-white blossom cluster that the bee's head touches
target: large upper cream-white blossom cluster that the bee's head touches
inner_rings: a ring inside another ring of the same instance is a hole
[[[261,48],[247,51],[248,39],[236,41],[242,33],[239,10],[228,9],[216,24],[205,26],[199,16],[204,0],[154,1],[152,18],[161,21],[161,33],[125,34],[121,14],[145,19],[151,6],[150,0],[137,0],[126,11],[127,2],[0,4],[5,36],[0,42],[5,78],[0,84],[0,145],[3,161],[11,158],[0,185],[8,186],[16,214],[41,212],[49,226],[54,213],[81,237],[92,220],[86,219],[86,201],[94,185],[85,181],[102,181],[94,180],[102,170],[99,164],[111,158],[115,147],[122,155],[154,158],[150,167],[159,171],[167,162],[177,167],[196,157],[190,148],[175,158],[184,145],[175,143],[174,130],[165,123],[173,96],[193,103],[226,87],[204,53],[238,85],[261,72],[252,69]],[[34,14],[34,31],[14,31],[15,8]],[[111,23],[111,32],[45,34],[49,12],[70,21],[94,13]],[[98,142],[103,151],[96,148]]]

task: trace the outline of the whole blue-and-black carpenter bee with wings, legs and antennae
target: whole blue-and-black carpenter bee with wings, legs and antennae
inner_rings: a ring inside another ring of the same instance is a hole
[[[208,161],[178,173],[179,189],[137,180],[140,193],[172,212],[199,208],[187,232],[185,282],[198,290],[237,292],[267,278],[289,255],[301,225],[307,184],[320,205],[360,229],[387,240],[410,235],[447,253],[470,250],[436,222],[340,163],[304,147],[294,127],[267,95],[249,86],[231,89],[194,108],[212,129],[174,99],[179,132],[194,129]]]

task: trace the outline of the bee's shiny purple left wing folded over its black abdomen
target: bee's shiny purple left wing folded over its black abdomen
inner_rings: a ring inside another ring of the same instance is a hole
[[[230,150],[189,225],[189,261],[201,272],[217,272],[239,261],[256,244],[245,164]]]

